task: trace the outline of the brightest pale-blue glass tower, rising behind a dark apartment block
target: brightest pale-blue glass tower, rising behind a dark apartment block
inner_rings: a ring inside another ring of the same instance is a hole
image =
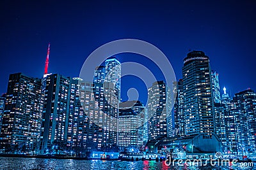
[[[120,101],[121,93],[121,63],[116,57],[109,57],[105,60],[105,81],[115,83]]]

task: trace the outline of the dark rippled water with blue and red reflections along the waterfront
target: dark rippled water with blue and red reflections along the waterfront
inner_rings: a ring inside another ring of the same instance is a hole
[[[33,158],[10,158],[0,157],[0,169],[88,169],[88,170],[112,170],[112,169],[256,169],[247,165],[237,166],[166,166],[164,162],[156,162],[154,160],[145,160],[137,162],[127,161],[109,161],[109,160],[72,160],[72,159],[33,159]]]

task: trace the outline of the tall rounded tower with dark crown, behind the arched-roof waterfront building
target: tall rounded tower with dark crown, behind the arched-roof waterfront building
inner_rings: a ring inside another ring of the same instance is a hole
[[[211,67],[201,51],[189,52],[182,67],[186,135],[214,133]]]

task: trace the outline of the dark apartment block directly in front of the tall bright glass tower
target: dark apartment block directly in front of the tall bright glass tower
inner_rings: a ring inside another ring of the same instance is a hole
[[[97,110],[93,113],[93,122],[96,124],[93,131],[98,133],[95,136],[99,136],[103,148],[117,145],[118,90],[111,83],[94,83],[93,94]]]

